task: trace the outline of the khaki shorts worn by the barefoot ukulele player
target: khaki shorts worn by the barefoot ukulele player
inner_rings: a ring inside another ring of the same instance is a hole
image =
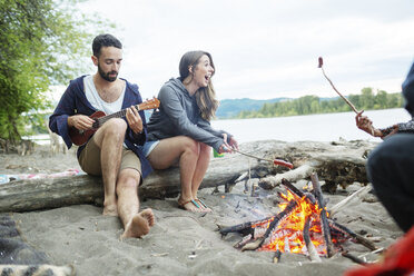
[[[95,142],[93,138],[91,138],[83,150],[80,152],[78,158],[80,168],[92,176],[101,176],[102,169],[100,166],[100,148]],[[136,169],[139,175],[141,174],[141,161],[139,160],[138,156],[130,149],[122,147],[122,157],[121,164],[119,167],[119,171],[122,169]]]

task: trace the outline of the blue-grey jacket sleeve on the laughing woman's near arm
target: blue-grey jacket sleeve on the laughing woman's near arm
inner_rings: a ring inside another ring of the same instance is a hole
[[[181,135],[191,137],[193,139],[207,144],[218,150],[223,140],[196,126],[188,119],[187,112],[183,108],[179,97],[174,89],[164,86],[159,91],[158,98],[162,105],[164,111]]]

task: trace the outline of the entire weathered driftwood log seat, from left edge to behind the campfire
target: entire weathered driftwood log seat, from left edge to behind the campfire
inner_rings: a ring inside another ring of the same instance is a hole
[[[316,171],[321,180],[333,185],[366,183],[366,151],[375,145],[365,141],[342,142],[285,142],[277,140],[243,144],[240,150],[252,155],[284,159],[294,164],[294,170],[273,166],[266,161],[248,159],[233,154],[213,158],[201,188],[234,185],[250,169],[250,177],[275,187],[287,178],[304,179]],[[299,174],[300,172],[300,174]],[[287,177],[289,176],[289,177]],[[247,179],[247,177],[245,177]],[[260,186],[262,186],[260,185]],[[139,188],[141,199],[174,197],[179,193],[178,167],[152,171]],[[101,204],[103,197],[101,179],[87,175],[62,178],[16,180],[0,185],[0,213],[30,211],[77,204]]]

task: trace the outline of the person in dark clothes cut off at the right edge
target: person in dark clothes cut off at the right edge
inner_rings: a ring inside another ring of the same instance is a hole
[[[414,63],[403,82],[403,95],[406,110],[414,116]],[[357,115],[356,124],[365,131],[372,126],[372,122],[361,115]],[[413,126],[413,120],[394,125],[390,128],[391,134],[374,128],[377,136],[385,135],[386,138],[369,155],[367,161],[368,179],[376,195],[404,231],[414,226]]]

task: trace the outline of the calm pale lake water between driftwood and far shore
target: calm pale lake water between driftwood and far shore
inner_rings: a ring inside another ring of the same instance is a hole
[[[364,115],[376,128],[384,128],[411,119],[403,108],[369,110]],[[354,112],[323,114],[263,119],[214,120],[211,126],[235,136],[237,141],[276,139],[283,141],[335,141],[341,137],[346,140],[377,140],[355,126]]]

